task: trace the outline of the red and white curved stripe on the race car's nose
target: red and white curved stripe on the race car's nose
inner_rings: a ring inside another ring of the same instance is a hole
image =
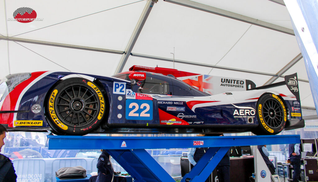
[[[20,101],[24,95],[24,93],[29,90],[29,88],[35,84],[38,80],[42,79],[43,77],[51,74],[53,71],[38,71],[31,74],[31,77],[24,82],[18,84],[13,91],[7,95],[4,99],[1,111],[17,111],[19,109]],[[7,114],[6,114],[7,115]],[[9,127],[13,126],[13,121],[17,120],[17,113],[10,113],[8,114],[9,117],[6,118]],[[1,117],[0,117],[1,119]]]

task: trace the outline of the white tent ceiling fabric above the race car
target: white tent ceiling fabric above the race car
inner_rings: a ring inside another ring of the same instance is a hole
[[[251,79],[261,86],[300,54],[293,35],[163,0],[153,5],[139,36],[135,37],[135,44],[129,44],[147,3],[149,0],[3,0],[0,3],[0,39],[11,37],[11,40],[0,40],[0,79],[9,73],[40,70],[110,76],[120,66],[122,53],[130,45],[132,54],[148,58],[128,54],[124,71],[132,65],[172,68],[171,53],[175,48],[176,60],[197,63],[191,66],[175,63],[178,70]],[[292,29],[287,8],[280,0],[195,0],[194,3]],[[43,21],[7,21],[20,7],[32,8]],[[300,79],[308,80],[303,59],[283,75],[294,72]],[[275,82],[282,80],[278,78]],[[299,85],[302,105],[314,107],[309,84],[300,81]]]

